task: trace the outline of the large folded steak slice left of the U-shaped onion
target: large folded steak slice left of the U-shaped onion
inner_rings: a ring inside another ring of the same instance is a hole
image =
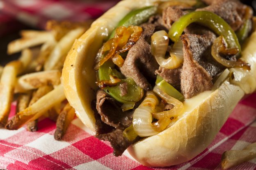
[[[126,77],[133,78],[142,89],[149,91],[155,81],[155,70],[159,65],[151,55],[151,36],[158,29],[155,24],[143,24],[143,32],[139,40],[130,48],[120,70]]]

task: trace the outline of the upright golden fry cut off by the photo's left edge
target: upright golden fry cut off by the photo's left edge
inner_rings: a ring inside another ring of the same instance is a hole
[[[5,126],[13,99],[16,76],[22,69],[19,60],[11,61],[4,69],[0,79],[0,126]]]

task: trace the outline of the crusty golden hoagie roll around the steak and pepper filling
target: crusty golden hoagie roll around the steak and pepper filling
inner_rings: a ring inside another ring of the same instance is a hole
[[[153,5],[157,0],[124,0],[98,18],[69,51],[62,71],[62,84],[77,116],[95,131],[91,101],[96,97],[94,60],[115,25],[129,11]],[[251,64],[250,76],[256,79],[256,32],[242,51],[242,59]],[[128,152],[145,166],[164,167],[189,161],[213,141],[235,105],[245,95],[238,86],[224,81],[215,91],[199,94],[184,102],[183,116],[157,135],[144,138],[128,148]]]

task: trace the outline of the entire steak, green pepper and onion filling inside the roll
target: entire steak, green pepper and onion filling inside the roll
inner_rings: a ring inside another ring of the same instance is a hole
[[[252,10],[237,0],[172,0],[128,13],[98,51],[91,103],[96,137],[114,155],[181,117],[183,103],[213,90],[240,59]]]

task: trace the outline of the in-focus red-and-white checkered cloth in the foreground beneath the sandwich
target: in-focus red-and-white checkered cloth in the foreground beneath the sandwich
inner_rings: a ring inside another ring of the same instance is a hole
[[[0,169],[6,170],[219,170],[226,150],[241,150],[256,142],[256,93],[233,110],[214,141],[189,162],[168,168],[140,165],[128,152],[115,157],[108,142],[99,141],[79,119],[73,120],[62,141],[55,141],[55,122],[44,119],[38,132],[0,129]],[[13,105],[12,113],[14,113]],[[255,170],[256,159],[231,168]]]

